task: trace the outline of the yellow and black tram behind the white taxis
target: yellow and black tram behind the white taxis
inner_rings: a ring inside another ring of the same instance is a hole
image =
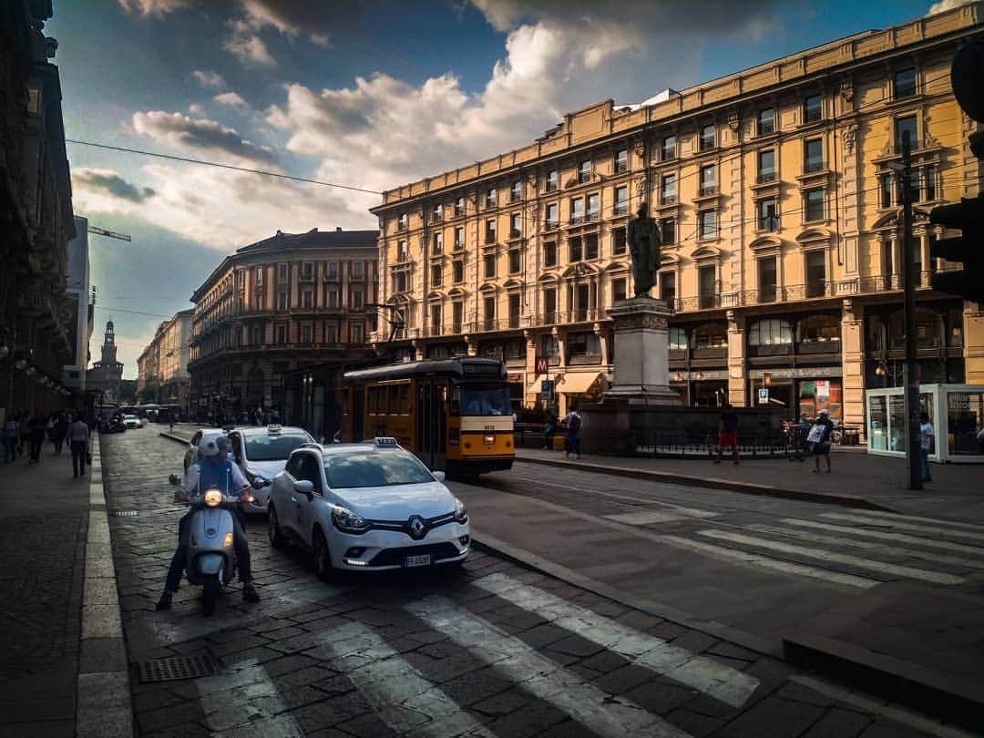
[[[394,436],[432,469],[475,476],[516,457],[513,407],[501,361],[412,361],[344,374],[344,441]]]

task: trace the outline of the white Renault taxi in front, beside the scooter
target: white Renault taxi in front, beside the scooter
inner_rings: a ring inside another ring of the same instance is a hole
[[[464,503],[394,438],[312,445],[274,477],[268,532],[314,554],[318,576],[461,563],[471,547]]]

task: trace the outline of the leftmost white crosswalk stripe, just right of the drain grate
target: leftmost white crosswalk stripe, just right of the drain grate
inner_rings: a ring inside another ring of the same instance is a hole
[[[206,727],[214,738],[277,735],[303,738],[297,721],[286,712],[277,685],[266,669],[248,659],[230,669],[195,680]]]

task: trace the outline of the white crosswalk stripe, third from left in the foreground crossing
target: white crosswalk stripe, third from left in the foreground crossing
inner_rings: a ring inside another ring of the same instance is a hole
[[[446,597],[431,595],[404,608],[474,656],[509,676],[518,687],[566,712],[599,736],[682,738],[687,733],[624,697],[613,697],[585,682],[488,621]]]

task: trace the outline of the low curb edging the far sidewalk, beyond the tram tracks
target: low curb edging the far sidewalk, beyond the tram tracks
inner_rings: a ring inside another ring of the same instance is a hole
[[[782,489],[772,487],[769,484],[757,484],[755,482],[738,482],[732,479],[718,479],[716,477],[688,476],[677,474],[670,471],[649,471],[648,469],[633,469],[626,466],[606,466],[596,463],[585,463],[584,461],[560,461],[552,459],[537,459],[535,457],[516,456],[516,461],[527,463],[539,463],[544,466],[562,466],[565,468],[576,468],[582,471],[589,471],[595,474],[609,474],[611,476],[629,476],[634,478],[645,478],[653,482],[667,482],[669,484],[679,484],[686,487],[714,487],[716,489],[726,489],[731,492],[739,492],[745,495],[759,495],[761,497],[777,497],[786,500],[800,500],[802,502],[814,502],[821,505],[837,505],[845,508],[855,508],[857,510],[878,510],[883,513],[894,513],[892,508],[879,505],[865,497],[854,495],[837,495],[822,492],[806,492],[796,489]]]

